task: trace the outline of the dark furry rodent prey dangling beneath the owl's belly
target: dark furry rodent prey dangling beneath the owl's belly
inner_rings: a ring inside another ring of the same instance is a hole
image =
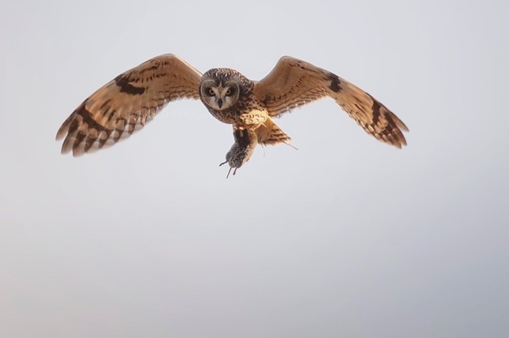
[[[254,152],[254,148],[256,148],[258,144],[257,134],[249,129],[235,129],[233,137],[235,138],[235,143],[226,154],[226,161],[219,164],[219,166],[226,163],[230,165],[227,178],[230,176],[232,168],[234,169],[233,175],[235,175],[237,169],[249,160]]]

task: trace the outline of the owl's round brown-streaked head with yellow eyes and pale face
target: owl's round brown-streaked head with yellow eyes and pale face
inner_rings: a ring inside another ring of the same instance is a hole
[[[215,110],[225,110],[234,105],[249,80],[239,72],[229,68],[213,68],[202,75],[200,98]]]

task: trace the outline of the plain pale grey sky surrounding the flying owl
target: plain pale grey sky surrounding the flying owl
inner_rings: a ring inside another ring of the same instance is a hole
[[[509,336],[505,1],[0,5],[0,336]],[[231,127],[169,104],[104,151],[56,130],[173,52],[260,79],[282,55],[371,93],[398,150],[332,100],[298,151],[219,167]]]

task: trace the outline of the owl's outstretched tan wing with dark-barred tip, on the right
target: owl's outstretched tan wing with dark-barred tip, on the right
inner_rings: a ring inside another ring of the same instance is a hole
[[[302,60],[279,59],[274,69],[256,83],[254,95],[271,117],[331,97],[367,133],[398,148],[407,144],[402,130],[408,128],[383,104],[347,80]]]

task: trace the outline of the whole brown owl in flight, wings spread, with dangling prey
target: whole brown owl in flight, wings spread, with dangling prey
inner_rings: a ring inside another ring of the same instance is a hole
[[[260,81],[236,70],[213,68],[204,74],[174,54],[134,67],[99,88],[62,124],[62,153],[74,156],[117,143],[145,126],[166,103],[201,99],[217,120],[233,125],[235,143],[226,154],[230,170],[242,166],[257,144],[289,144],[277,118],[295,107],[330,97],[367,133],[401,148],[406,145],[397,116],[347,80],[292,57],[282,57]]]

